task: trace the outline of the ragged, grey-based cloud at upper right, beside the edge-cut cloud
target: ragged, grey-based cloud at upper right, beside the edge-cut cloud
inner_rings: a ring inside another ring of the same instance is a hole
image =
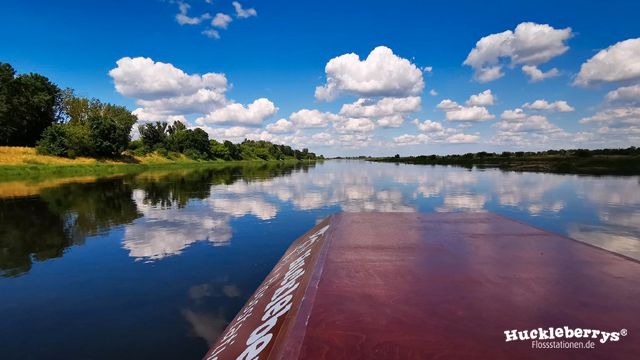
[[[572,35],[571,28],[555,29],[547,24],[523,22],[516,27],[515,31],[507,30],[478,40],[464,64],[473,68],[476,80],[480,82],[496,80],[504,75],[502,67],[506,59],[511,66],[519,64],[537,66],[546,63],[569,49],[566,41]],[[534,69],[527,68],[527,70],[531,72]],[[525,72],[527,70],[523,69]],[[540,71],[537,67],[535,70]],[[542,74],[547,74],[549,77],[551,73],[553,70]],[[536,73],[536,75],[539,74]],[[533,76],[530,75],[530,77],[533,79]]]

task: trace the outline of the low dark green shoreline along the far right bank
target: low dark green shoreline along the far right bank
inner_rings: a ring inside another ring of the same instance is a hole
[[[361,159],[363,157],[360,157]],[[467,153],[367,157],[368,161],[415,165],[453,165],[466,168],[498,168],[505,171],[549,172],[584,175],[640,175],[640,148],[575,149],[539,152]]]

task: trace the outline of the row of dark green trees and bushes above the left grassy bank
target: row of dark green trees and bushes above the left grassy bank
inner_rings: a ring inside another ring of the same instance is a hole
[[[158,153],[168,158],[186,155],[196,160],[315,160],[308,149],[297,150],[268,141],[240,144],[209,139],[202,129],[184,123],[140,125],[139,140],[131,140],[137,117],[126,107],[76,96],[40,74],[16,74],[0,63],[0,146],[36,147],[38,153],[74,158],[118,158]]]

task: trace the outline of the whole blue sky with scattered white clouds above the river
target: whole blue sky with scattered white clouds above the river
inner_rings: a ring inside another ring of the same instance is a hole
[[[5,2],[0,61],[141,122],[327,155],[640,144],[639,2],[238,4]]]

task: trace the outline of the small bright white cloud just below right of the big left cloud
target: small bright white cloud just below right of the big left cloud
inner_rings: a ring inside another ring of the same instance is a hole
[[[210,112],[205,117],[196,119],[196,123],[259,126],[277,110],[278,108],[269,99],[260,98],[247,106],[238,103],[228,104]]]

